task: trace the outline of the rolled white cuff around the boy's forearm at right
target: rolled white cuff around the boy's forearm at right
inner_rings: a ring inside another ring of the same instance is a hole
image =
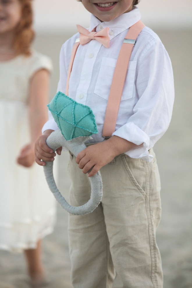
[[[112,136],[118,136],[120,138],[124,138],[129,142],[132,142],[136,145],[141,145],[135,149],[125,152],[131,158],[141,158],[147,162],[151,162],[153,156],[149,154],[148,150],[150,145],[149,136],[142,131],[138,126],[136,126],[133,122],[129,122],[119,129],[117,129]]]

